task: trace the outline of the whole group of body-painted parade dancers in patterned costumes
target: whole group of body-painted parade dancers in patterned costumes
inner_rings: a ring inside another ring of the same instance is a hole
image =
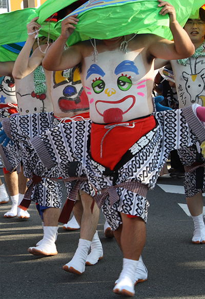
[[[28,251],[45,257],[58,253],[59,222],[64,229],[80,228],[74,257],[63,267],[79,275],[86,265],[103,258],[96,230],[102,208],[105,234],[116,239],[123,253],[113,292],[134,296],[136,283],[148,279],[141,257],[146,195],[170,152],[177,151],[184,167],[185,195],[194,221],[192,242],[205,244],[205,11],[200,8],[198,18],[188,18],[182,28],[174,7],[158,0],[159,14],[169,15],[172,41],[133,33],[67,47],[80,19],[72,12],[83,3],[76,1],[57,13],[63,20],[53,42],[43,36],[37,43],[41,26],[38,17],[33,18],[16,60],[0,62],[0,76],[15,83],[16,95],[12,110],[8,104],[0,107],[0,154],[12,200],[4,217],[28,219],[27,209],[34,201],[44,236]],[[172,98],[171,109],[160,105],[157,110],[152,98],[158,82],[154,69],[168,65],[179,105]],[[59,178],[67,190],[64,207]],[[0,182],[0,203],[8,202]]]

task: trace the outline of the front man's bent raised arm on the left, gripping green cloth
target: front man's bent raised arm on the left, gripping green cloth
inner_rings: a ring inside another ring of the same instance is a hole
[[[61,22],[61,34],[51,45],[43,60],[43,67],[48,71],[61,71],[71,69],[81,61],[80,47],[72,46],[65,49],[66,41],[75,30],[79,19],[77,14],[65,18]]]

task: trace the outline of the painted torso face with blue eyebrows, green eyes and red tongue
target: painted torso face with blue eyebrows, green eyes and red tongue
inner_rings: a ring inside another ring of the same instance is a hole
[[[110,53],[113,57],[111,59]],[[149,114],[147,104],[149,79],[145,77],[144,64],[137,54],[103,52],[98,55],[96,63],[93,63],[92,57],[86,58],[84,89],[89,97],[90,115],[93,121],[114,123],[135,119],[138,117],[137,109],[144,115]]]

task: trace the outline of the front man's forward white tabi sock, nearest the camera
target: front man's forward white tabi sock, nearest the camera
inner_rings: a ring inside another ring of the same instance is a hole
[[[123,259],[123,268],[113,292],[124,296],[134,296],[135,273],[139,261]]]

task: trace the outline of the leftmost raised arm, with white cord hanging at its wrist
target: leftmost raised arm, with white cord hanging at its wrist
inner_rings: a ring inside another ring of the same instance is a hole
[[[45,54],[40,52],[37,48],[31,57],[29,57],[35,42],[35,29],[39,29],[41,27],[38,23],[36,23],[37,19],[38,17],[33,18],[27,25],[28,33],[31,34],[28,35],[26,44],[15,61],[12,73],[14,79],[22,79],[32,73],[42,63],[45,56]]]

